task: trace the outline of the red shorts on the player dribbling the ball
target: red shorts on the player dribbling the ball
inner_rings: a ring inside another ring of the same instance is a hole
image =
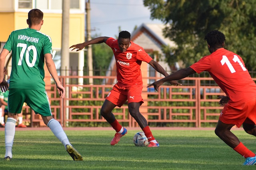
[[[106,100],[111,101],[118,107],[121,107],[127,100],[128,103],[140,102],[140,105],[142,105],[144,102],[141,93],[142,85],[130,85],[129,87],[123,87],[115,84],[113,89],[108,93]]]

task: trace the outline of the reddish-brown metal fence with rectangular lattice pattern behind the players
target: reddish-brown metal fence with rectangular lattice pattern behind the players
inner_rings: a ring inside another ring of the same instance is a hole
[[[108,95],[116,77],[107,76],[64,76],[59,77],[67,89],[67,97],[60,99],[55,84],[47,87],[52,114],[63,127],[99,127],[109,126],[100,115],[101,106]],[[87,81],[93,78],[96,85],[79,84],[79,79]],[[158,80],[159,77],[144,77],[144,81]],[[256,79],[254,79],[256,81]],[[69,82],[69,83],[67,83]],[[104,83],[103,83],[104,82]],[[159,91],[146,88],[144,83],[142,96],[144,103],[140,112],[151,127],[212,127],[218,122],[223,106],[219,105],[220,95],[225,95],[211,77],[187,77],[180,80],[182,86],[164,84]],[[24,121],[32,127],[44,126],[39,115],[24,107]],[[32,113],[32,114],[31,114]],[[125,103],[113,111],[116,119],[126,127],[137,127],[136,121],[128,112]]]

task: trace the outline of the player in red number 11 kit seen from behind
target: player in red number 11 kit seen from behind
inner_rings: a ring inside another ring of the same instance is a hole
[[[148,85],[158,91],[160,85],[166,81],[179,80],[194,73],[208,71],[214,81],[227,96],[218,97],[220,104],[226,103],[220,113],[215,129],[216,135],[228,146],[241,154],[246,161],[244,165],[256,164],[256,156],[250,151],[230,129],[236,125],[243,125],[248,134],[256,136],[256,85],[244,66],[242,58],[224,49],[225,36],[218,30],[210,31],[204,38],[210,55],[202,57],[188,68]]]

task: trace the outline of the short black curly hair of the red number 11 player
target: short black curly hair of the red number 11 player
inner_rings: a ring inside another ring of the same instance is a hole
[[[206,41],[210,47],[223,47],[225,40],[225,35],[218,30],[212,30],[204,37],[204,41]]]

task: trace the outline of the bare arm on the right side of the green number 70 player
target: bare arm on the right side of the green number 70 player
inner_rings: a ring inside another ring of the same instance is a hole
[[[45,58],[47,69],[49,70],[50,74],[52,75],[52,78],[56,83],[57,91],[60,97],[63,99],[65,97],[66,91],[65,91],[65,88],[60,84],[56,67],[55,67],[54,61],[52,60],[52,54],[47,53],[44,55],[44,58]]]

